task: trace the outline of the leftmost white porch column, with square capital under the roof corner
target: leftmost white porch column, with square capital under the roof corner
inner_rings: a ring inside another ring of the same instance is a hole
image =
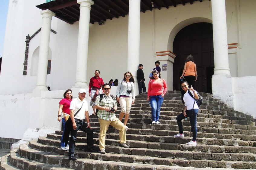
[[[49,54],[49,44],[50,44],[50,32],[51,32],[51,22],[52,17],[55,13],[50,10],[43,10],[40,12],[42,17],[42,28],[41,28],[41,40],[38,58],[38,70],[37,70],[37,84],[34,92],[47,91],[46,87],[46,76],[47,76],[47,63]]]

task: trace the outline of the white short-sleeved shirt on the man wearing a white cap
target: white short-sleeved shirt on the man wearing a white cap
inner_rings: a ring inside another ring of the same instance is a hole
[[[81,108],[83,104],[83,107]],[[76,114],[76,112],[81,108],[81,110],[77,113],[77,115],[75,116],[76,119],[84,119],[85,117],[85,114],[84,112],[85,111],[88,111],[88,103],[87,101],[84,99],[83,101],[81,101],[79,99],[79,97],[75,98],[74,100],[71,101],[70,103],[70,108],[69,109],[72,109],[74,110],[74,115]]]

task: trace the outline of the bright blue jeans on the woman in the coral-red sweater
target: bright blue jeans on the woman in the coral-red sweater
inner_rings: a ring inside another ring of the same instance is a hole
[[[150,96],[152,121],[157,122],[159,120],[160,109],[163,101],[164,97],[162,97],[161,95]]]

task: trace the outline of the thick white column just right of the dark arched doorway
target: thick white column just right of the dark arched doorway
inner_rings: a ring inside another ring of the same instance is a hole
[[[214,75],[229,75],[225,0],[212,0]]]

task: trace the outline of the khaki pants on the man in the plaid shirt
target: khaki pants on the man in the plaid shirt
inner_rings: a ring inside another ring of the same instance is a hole
[[[126,139],[125,139],[125,125],[122,124],[122,122],[115,118],[114,120],[103,120],[99,119],[99,126],[100,126],[100,131],[99,131],[99,149],[100,150],[105,150],[105,139],[106,139],[106,132],[109,128],[109,125],[113,126],[119,131],[119,139],[120,139],[120,144],[124,144]]]

